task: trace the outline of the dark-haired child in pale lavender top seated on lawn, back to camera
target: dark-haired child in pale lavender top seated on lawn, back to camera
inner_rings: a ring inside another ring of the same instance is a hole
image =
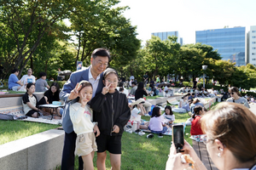
[[[160,107],[154,107],[148,129],[151,130],[152,133],[166,133],[168,127],[169,126],[166,125],[164,117],[161,116]]]

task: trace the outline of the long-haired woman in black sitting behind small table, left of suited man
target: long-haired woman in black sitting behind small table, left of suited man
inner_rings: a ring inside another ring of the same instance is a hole
[[[44,92],[44,97],[40,99],[40,101],[38,102],[38,105],[52,104],[53,101],[61,101],[59,94],[60,94],[59,84],[57,82],[53,82],[49,90]],[[57,115],[62,116],[62,113],[63,113],[63,109],[61,107],[58,107]]]

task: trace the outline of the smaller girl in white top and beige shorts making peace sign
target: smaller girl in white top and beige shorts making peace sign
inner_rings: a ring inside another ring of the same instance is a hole
[[[92,111],[87,105],[92,97],[92,85],[88,81],[81,81],[74,91],[73,96],[78,98],[78,102],[70,105],[69,114],[74,132],[78,135],[75,153],[82,156],[84,169],[93,170],[93,156],[97,150],[95,133],[98,136],[100,131],[96,122],[91,122]]]

